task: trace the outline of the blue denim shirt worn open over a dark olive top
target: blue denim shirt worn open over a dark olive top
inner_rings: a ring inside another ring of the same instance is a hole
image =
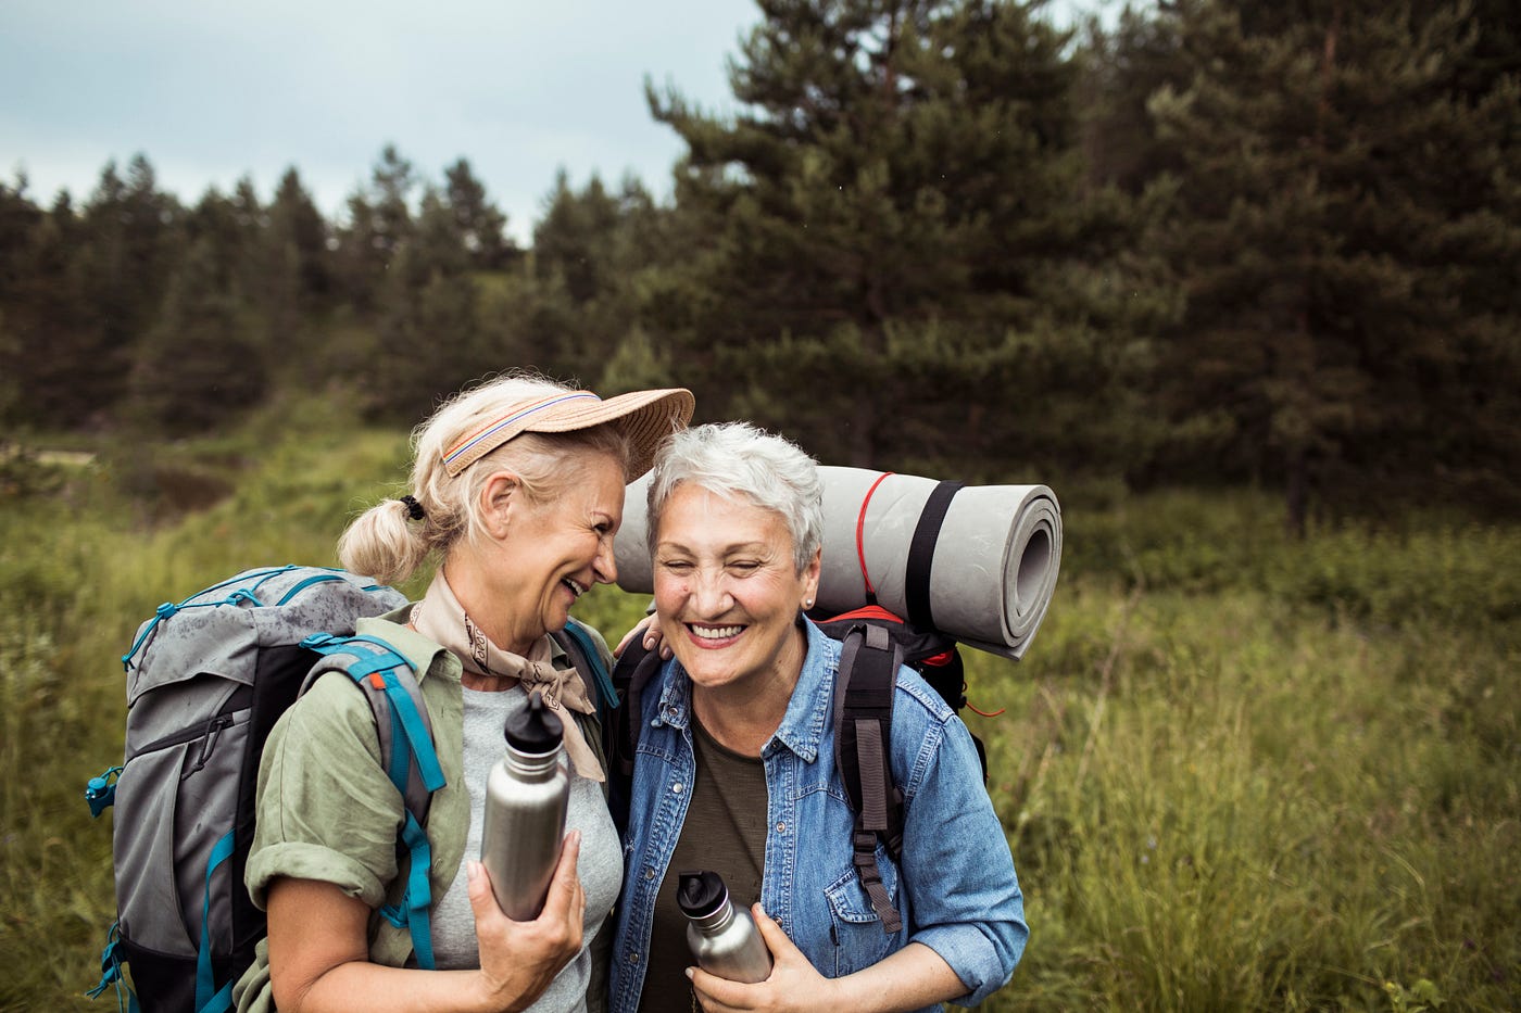
[[[975,1005],[1002,987],[1030,934],[1002,823],[961,719],[903,668],[893,700],[893,779],[903,791],[900,867],[876,861],[903,928],[888,935],[852,865],[853,817],[835,770],[840,643],[808,622],[808,656],[782,726],[760,750],[768,792],[760,905],[826,978],[870,967],[908,943],[934,949]],[[697,761],[692,681],[666,662],[640,697],[611,1005],[634,1013],[656,894],[686,820]],[[928,1007],[938,1010],[938,1005]]]

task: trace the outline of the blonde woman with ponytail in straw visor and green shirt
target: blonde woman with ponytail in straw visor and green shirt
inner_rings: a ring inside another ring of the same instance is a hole
[[[359,625],[418,672],[447,782],[424,827],[437,969],[420,970],[409,932],[380,914],[406,890],[403,803],[380,768],[368,703],[347,677],[324,677],[265,748],[245,882],[269,935],[234,989],[239,1010],[601,1007],[590,946],[622,885],[622,852],[604,802],[595,689],[549,634],[576,598],[616,580],[624,487],[692,408],[684,389],[604,400],[508,374],[414,430],[409,491],[356,517],[339,560],[382,583],[438,561],[421,601]],[[599,637],[598,648],[607,660]],[[529,691],[569,718],[570,805],[543,913],[514,922],[473,859],[485,774]]]

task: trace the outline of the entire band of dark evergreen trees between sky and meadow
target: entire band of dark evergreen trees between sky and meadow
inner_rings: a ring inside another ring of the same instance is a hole
[[[513,365],[681,383],[823,459],[1521,505],[1510,0],[765,0],[733,116],[649,90],[669,202],[561,176],[532,228],[386,148],[184,205],[148,158],[0,186],[14,429],[216,426],[289,385],[412,421]]]

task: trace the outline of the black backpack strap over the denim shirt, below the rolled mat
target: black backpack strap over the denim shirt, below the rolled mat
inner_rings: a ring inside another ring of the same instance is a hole
[[[887,630],[861,624],[844,637],[835,681],[835,764],[855,812],[852,862],[885,932],[903,920],[876,867],[878,838],[893,861],[903,843],[903,797],[893,783],[893,688],[902,651]]]

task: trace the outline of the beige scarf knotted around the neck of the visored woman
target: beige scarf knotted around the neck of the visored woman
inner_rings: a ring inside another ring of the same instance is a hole
[[[516,678],[525,692],[540,691],[545,703],[564,726],[566,754],[575,765],[575,773],[587,780],[607,780],[602,765],[596,762],[596,754],[581,735],[581,726],[561,710],[595,713],[596,707],[573,665],[555,668],[551,663],[548,636],[534,642],[528,657],[503,651],[470,621],[464,605],[449,589],[443,569],[433,575],[423,601],[412,607],[411,624],[429,640],[449,648],[465,671],[491,678]]]

